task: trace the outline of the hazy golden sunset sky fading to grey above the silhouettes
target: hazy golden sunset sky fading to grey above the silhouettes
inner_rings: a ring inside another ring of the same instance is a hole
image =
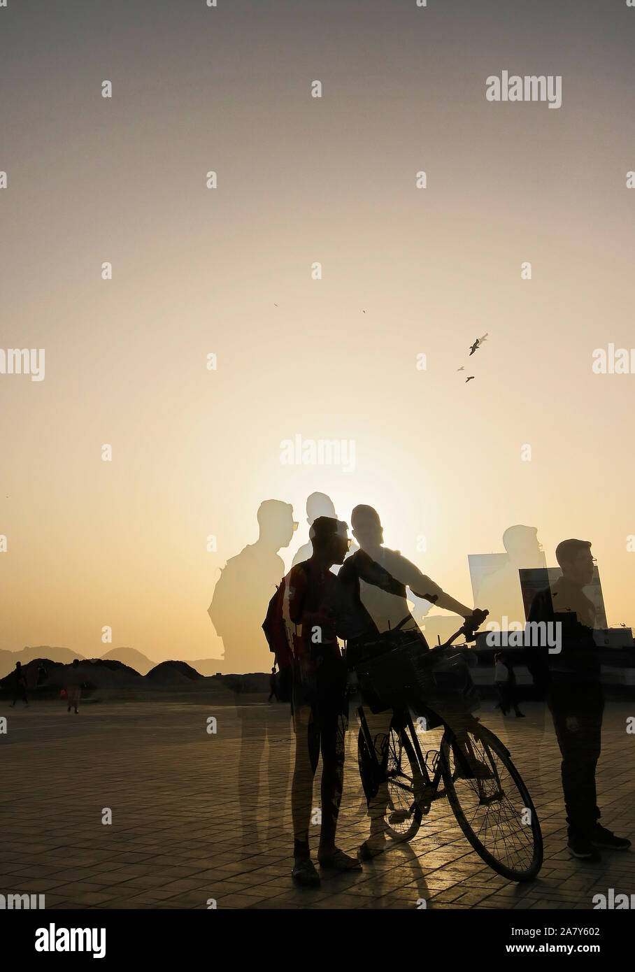
[[[470,604],[510,525],[590,539],[635,626],[635,375],[591,370],[635,347],[634,38],[624,3],[9,0],[0,346],[46,376],[0,374],[0,648],[219,656],[219,569],[270,498],[289,567],[314,490]],[[488,102],[503,70],[562,107]]]

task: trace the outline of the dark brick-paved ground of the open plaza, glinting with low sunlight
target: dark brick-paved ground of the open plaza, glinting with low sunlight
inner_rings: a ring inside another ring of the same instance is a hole
[[[206,908],[211,898],[218,908],[416,908],[425,899],[429,908],[590,909],[593,894],[635,890],[632,851],[582,864],[565,850],[559,752],[538,705],[526,707],[525,719],[503,719],[491,703],[478,713],[510,747],[534,797],[545,837],[537,881],[514,885],[494,874],[443,800],[411,844],[311,891],[289,878],[291,727],[283,707],[102,703],[75,715],[60,706],[0,703],[8,719],[0,731],[2,894],[45,893],[46,907],[61,909]],[[598,770],[603,822],[621,834],[634,806],[635,737],[625,732],[633,710],[609,708]],[[216,734],[207,732],[210,715]],[[349,852],[368,824],[356,735],[355,727],[338,831]],[[424,747],[435,738],[428,734]],[[102,823],[104,808],[111,825]]]

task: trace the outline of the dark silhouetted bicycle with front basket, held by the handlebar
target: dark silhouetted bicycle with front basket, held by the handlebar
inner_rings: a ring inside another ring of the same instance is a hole
[[[394,631],[390,635],[394,638]],[[360,775],[367,797],[376,795],[387,777],[386,834],[395,841],[411,841],[432,804],[447,797],[463,834],[489,867],[511,881],[533,881],[543,863],[543,837],[510,750],[471,715],[457,736],[421,698],[439,688],[435,667],[451,671],[463,659],[449,654],[450,645],[461,635],[466,641],[456,647],[474,642],[476,629],[467,621],[447,642],[423,651],[420,637],[401,635],[400,646],[355,666],[363,693],[357,709]],[[364,713],[365,699],[372,712],[393,709],[383,767]],[[442,730],[439,748],[425,755],[410,712],[413,705],[418,724],[423,716],[426,727]]]

